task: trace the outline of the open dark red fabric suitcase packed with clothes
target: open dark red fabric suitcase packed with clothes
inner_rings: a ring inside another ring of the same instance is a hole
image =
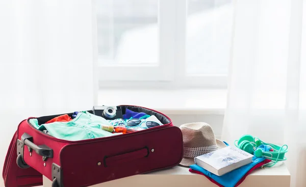
[[[42,185],[42,175],[52,180],[53,186],[89,186],[181,162],[182,132],[170,118],[140,106],[121,107],[155,115],[165,125],[112,137],[66,141],[37,130],[29,123],[31,118],[23,120],[5,159],[5,186]],[[37,119],[42,124],[59,115]]]

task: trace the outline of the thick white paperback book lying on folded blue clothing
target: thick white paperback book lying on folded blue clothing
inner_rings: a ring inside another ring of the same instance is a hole
[[[194,158],[196,165],[222,176],[252,162],[253,155],[237,147],[227,146]]]

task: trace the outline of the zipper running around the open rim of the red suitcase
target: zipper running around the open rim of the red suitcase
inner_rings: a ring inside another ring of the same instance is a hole
[[[136,105],[119,105],[119,106],[136,106]],[[161,115],[167,117],[165,114],[163,114],[163,113],[161,113],[161,112],[158,112],[158,111],[156,111],[156,110],[153,110],[153,109],[148,109],[148,108],[145,108],[145,107],[142,107],[142,106],[136,106],[136,107],[144,108],[144,109],[147,109],[147,110],[150,110],[150,111],[154,111],[154,112],[156,112],[156,113],[159,113],[159,114],[161,114]],[[53,137],[53,136],[51,136],[51,135],[48,135],[47,133],[44,133],[44,132],[42,132],[42,131],[36,129],[36,128],[30,123],[30,121],[29,121],[29,120],[32,119],[32,118],[35,118],[35,117],[30,117],[30,118],[28,118],[27,122],[28,122],[28,124],[30,124],[30,126],[31,126],[34,130],[38,131],[39,133],[41,133],[41,134],[44,135],[44,136],[50,137],[50,139],[56,140],[56,141],[58,141],[58,142],[64,142],[64,143],[74,143],[74,142],[75,142],[75,143],[83,143],[83,142],[95,141],[95,140],[97,140],[97,139],[106,140],[106,139],[112,139],[112,138],[115,138],[115,137],[127,136],[127,135],[131,135],[131,134],[135,135],[136,133],[141,133],[141,132],[143,132],[143,131],[147,132],[148,130],[155,130],[155,129],[157,129],[157,128],[159,129],[159,128],[166,128],[166,127],[169,127],[169,126],[173,126],[173,125],[172,125],[171,119],[169,119],[169,118],[167,117],[167,118],[170,120],[169,123],[164,124],[164,125],[161,125],[161,126],[157,126],[157,127],[152,127],[152,128],[148,128],[148,129],[144,129],[144,130],[139,130],[139,131],[137,131],[137,132],[129,132],[128,134],[117,135],[117,136],[111,136],[111,137],[102,137],[102,138],[94,138],[94,139],[87,139],[87,140],[69,141],[69,140],[63,140],[63,139],[55,138],[55,137]]]

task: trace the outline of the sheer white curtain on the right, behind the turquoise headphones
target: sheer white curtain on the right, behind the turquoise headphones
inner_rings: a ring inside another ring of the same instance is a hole
[[[306,186],[306,2],[235,2],[222,138],[287,144],[291,186]]]

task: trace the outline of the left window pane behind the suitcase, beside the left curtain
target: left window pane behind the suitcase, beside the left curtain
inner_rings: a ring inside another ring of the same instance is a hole
[[[100,65],[158,64],[158,0],[98,2]]]

